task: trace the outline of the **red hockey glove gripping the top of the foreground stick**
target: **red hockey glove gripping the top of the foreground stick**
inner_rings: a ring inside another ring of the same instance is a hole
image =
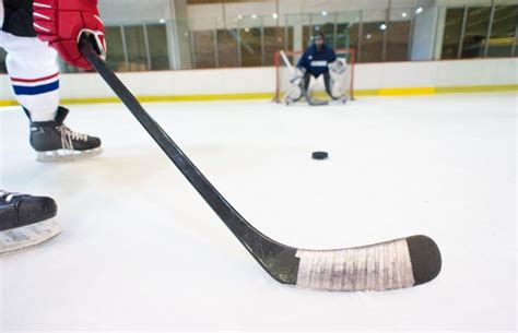
[[[85,34],[96,52],[106,58],[104,24],[97,0],[34,0],[34,31],[48,41],[71,66],[92,69],[79,51],[78,43]]]

